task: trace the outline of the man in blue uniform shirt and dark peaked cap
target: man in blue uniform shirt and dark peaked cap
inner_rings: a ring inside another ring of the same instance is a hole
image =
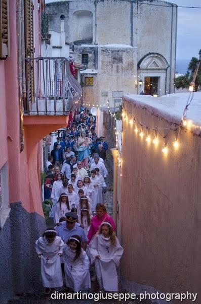
[[[77,235],[81,237],[82,247],[84,250],[87,248],[87,236],[84,230],[84,226],[78,224],[76,222],[78,216],[73,212],[65,213],[66,221],[60,222],[56,227],[57,236],[59,236],[64,243],[68,241],[68,239]]]

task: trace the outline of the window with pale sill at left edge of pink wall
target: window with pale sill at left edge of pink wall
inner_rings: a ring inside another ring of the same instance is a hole
[[[6,163],[0,169],[0,228],[4,227],[4,224],[9,217],[9,187],[8,187],[8,164]]]

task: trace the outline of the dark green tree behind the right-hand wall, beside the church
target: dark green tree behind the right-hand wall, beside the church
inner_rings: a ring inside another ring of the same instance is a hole
[[[188,88],[190,85],[190,82],[193,79],[194,71],[197,67],[197,64],[199,60],[201,60],[201,49],[199,50],[199,59],[196,57],[192,57],[190,60],[190,63],[188,65],[188,70],[185,75],[179,76],[175,78],[175,87],[177,89],[179,88]],[[199,69],[197,72],[197,77],[195,80],[195,92],[198,90],[198,88],[201,86],[201,64],[199,65]]]

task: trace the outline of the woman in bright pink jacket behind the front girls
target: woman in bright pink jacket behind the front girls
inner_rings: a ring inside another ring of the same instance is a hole
[[[102,224],[102,222],[108,222],[112,225],[112,229],[115,232],[116,227],[115,227],[115,223],[113,218],[107,214],[107,210],[104,204],[102,203],[98,203],[96,205],[96,215],[93,216],[92,218],[92,222],[91,222],[91,226],[88,232],[88,244],[90,243],[90,241],[94,238],[94,236],[96,235],[96,233],[99,231],[100,229],[100,225]]]

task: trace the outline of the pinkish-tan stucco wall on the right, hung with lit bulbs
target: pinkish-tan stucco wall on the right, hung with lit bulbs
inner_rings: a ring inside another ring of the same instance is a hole
[[[159,128],[164,118],[124,100],[132,116]],[[160,131],[164,136],[167,130]],[[164,133],[163,133],[164,132]],[[129,281],[164,292],[198,292],[201,281],[200,137],[180,129],[179,148],[168,136],[168,154],[148,144],[123,120],[122,273]],[[179,301],[178,301],[179,302]],[[198,301],[199,302],[199,301]]]

